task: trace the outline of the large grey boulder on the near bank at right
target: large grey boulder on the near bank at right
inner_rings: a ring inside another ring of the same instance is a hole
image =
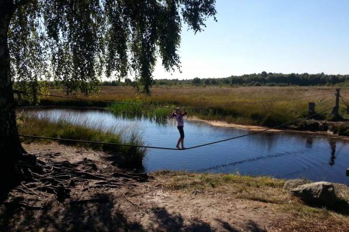
[[[333,184],[325,181],[300,185],[291,193],[309,204],[332,205],[337,199]]]

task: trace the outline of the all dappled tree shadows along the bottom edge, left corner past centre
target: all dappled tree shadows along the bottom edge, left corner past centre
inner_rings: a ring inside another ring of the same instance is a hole
[[[131,212],[132,215],[133,212]],[[0,207],[1,231],[217,231],[199,219],[185,220],[180,213],[169,213],[164,207],[150,210],[149,224],[130,221],[109,194],[95,194],[88,200],[71,200],[57,204],[51,201],[42,208]],[[225,231],[240,231],[228,222],[218,220]],[[265,231],[249,221],[250,231]]]

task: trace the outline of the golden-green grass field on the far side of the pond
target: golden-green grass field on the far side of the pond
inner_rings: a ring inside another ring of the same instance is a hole
[[[166,107],[199,107],[225,103],[252,102],[277,98],[292,98],[306,95],[333,93],[334,87],[168,87],[152,88],[152,95],[138,95],[132,87],[101,87],[99,95],[93,99],[124,101],[140,104],[151,104]],[[51,91],[51,94],[64,95],[64,92]],[[349,91],[342,89],[341,94],[349,98]],[[84,97],[79,96],[78,97]],[[304,117],[308,111],[308,102],[320,102],[331,95],[302,98],[289,101],[276,101],[244,106],[227,106],[189,110],[188,116],[197,116],[207,120],[223,120],[229,123],[274,126]],[[316,106],[322,111],[334,106],[333,100]],[[154,109],[123,104],[108,105],[105,102],[84,102],[49,97],[41,104],[57,106],[94,106],[107,107],[115,114],[125,116],[145,115],[152,119],[163,120],[172,113],[171,109]],[[340,112],[345,115],[345,107],[341,102]],[[328,116],[325,114],[324,117]]]

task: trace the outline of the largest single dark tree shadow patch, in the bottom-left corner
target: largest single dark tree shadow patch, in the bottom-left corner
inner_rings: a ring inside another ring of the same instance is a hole
[[[39,211],[6,208],[0,226],[4,231],[144,231],[139,223],[127,220],[110,195],[98,194],[93,199],[64,205],[51,201]]]

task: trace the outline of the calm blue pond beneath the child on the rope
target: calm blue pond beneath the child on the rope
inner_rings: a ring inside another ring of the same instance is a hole
[[[157,123],[146,118],[125,118],[107,111],[40,109],[29,110],[38,116],[57,121],[65,115],[71,122],[76,117],[101,123],[106,130],[122,125],[136,128],[146,145],[174,147],[179,138],[175,120]],[[186,120],[185,146],[244,135],[246,130],[213,126]],[[349,183],[345,176],[349,167],[349,143],[326,136],[290,132],[263,132],[192,150],[172,151],[148,149],[144,159],[145,172],[182,170],[188,172],[268,175],[276,178],[307,178],[313,181]]]

